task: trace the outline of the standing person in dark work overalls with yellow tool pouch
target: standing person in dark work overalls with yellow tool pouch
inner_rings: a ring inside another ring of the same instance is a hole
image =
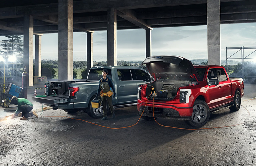
[[[103,69],[102,70],[102,78],[99,80],[99,89],[97,92],[97,95],[95,97],[95,99],[97,100],[98,95],[100,94],[101,96],[101,101],[103,104],[103,118],[101,120],[106,120],[107,119],[107,103],[110,107],[110,111],[112,113],[112,118],[115,118],[115,110],[113,107],[113,103],[112,103],[112,94],[114,93],[113,98],[116,97],[116,92],[115,92],[115,87],[112,83],[111,78],[109,78],[108,76],[108,70],[107,69]],[[112,91],[110,91],[110,88],[112,88]]]

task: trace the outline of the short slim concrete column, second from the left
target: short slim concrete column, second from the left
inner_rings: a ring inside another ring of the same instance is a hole
[[[41,76],[41,36],[35,35],[35,76]]]

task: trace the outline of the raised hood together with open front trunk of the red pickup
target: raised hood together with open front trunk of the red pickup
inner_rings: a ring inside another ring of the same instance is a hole
[[[173,100],[180,87],[197,84],[199,79],[193,64],[180,56],[150,56],[142,64],[146,64],[154,80],[153,83],[147,85],[146,97],[148,99]],[[153,91],[151,94],[151,87],[154,87],[155,93]]]

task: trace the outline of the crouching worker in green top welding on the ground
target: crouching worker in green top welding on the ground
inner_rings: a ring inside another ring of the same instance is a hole
[[[37,116],[36,112],[33,111],[32,113],[30,113],[30,111],[33,109],[33,104],[24,98],[17,98],[16,96],[13,96],[11,99],[11,103],[18,105],[17,110],[15,111],[14,114],[12,114],[12,118],[14,118],[15,116],[17,116],[20,112],[22,113],[20,120],[26,120],[28,119],[28,117],[33,117],[33,116]]]

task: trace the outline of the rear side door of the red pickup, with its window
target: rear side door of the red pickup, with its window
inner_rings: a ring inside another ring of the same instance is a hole
[[[228,103],[231,101],[231,81],[228,79],[226,72],[223,68],[217,68],[217,74],[219,77],[219,87],[221,90],[222,103]]]

